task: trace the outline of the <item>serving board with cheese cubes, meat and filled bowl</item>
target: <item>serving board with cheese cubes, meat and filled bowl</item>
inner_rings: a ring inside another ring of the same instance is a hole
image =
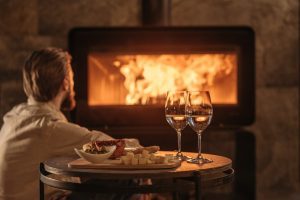
[[[125,140],[91,141],[74,149],[79,159],[70,168],[99,169],[169,169],[180,166],[172,154],[160,155],[159,146],[126,148]]]

